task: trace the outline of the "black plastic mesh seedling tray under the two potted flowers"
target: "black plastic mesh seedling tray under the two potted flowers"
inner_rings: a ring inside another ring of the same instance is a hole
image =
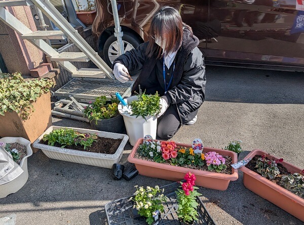
[[[176,208],[176,189],[180,186],[179,183],[174,182],[172,184],[168,184],[160,187],[160,189],[165,189],[164,195],[168,197],[168,201],[163,203],[164,212],[161,213],[161,221],[159,225],[179,225]],[[145,220],[142,219],[133,219],[131,216],[131,211],[133,208],[133,201],[130,199],[132,196],[128,198],[118,199],[112,202],[109,202],[105,205],[105,212],[108,221],[108,225],[145,225]],[[199,220],[195,221],[195,225],[216,225],[213,221],[209,212],[205,208],[205,205],[197,197],[198,213]]]

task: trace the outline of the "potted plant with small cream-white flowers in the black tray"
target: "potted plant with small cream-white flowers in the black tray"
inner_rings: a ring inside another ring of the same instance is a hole
[[[133,197],[134,206],[138,210],[138,214],[146,217],[146,222],[148,224],[152,224],[154,221],[153,215],[158,210],[160,212],[164,212],[163,202],[167,201],[167,197],[164,194],[161,194],[160,187],[158,185],[153,187],[147,186],[144,189],[142,186],[138,188],[135,186],[137,191],[135,192],[135,196]]]

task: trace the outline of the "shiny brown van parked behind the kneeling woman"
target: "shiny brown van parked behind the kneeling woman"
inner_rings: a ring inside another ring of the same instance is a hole
[[[304,6],[300,0],[118,0],[126,51],[147,41],[163,6],[193,28],[206,64],[304,71]],[[93,35],[108,65],[118,57],[110,0],[96,0]]]

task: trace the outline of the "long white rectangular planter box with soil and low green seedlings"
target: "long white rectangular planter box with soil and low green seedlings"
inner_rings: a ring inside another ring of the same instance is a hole
[[[72,162],[72,163],[81,163],[81,164],[86,164],[86,165],[91,165],[91,166],[111,168],[113,164],[119,163],[119,161],[123,155],[124,146],[126,145],[128,138],[129,138],[125,134],[117,134],[117,133],[110,133],[110,132],[97,131],[97,130],[66,127],[66,128],[71,128],[74,131],[78,131],[80,133],[89,133],[89,134],[97,133],[98,137],[123,139],[115,154],[83,152],[83,151],[60,148],[60,147],[55,147],[55,146],[50,146],[50,145],[39,143],[45,134],[49,134],[52,130],[57,130],[60,128],[65,128],[65,127],[57,127],[57,126],[49,127],[39,138],[37,138],[33,142],[33,147],[42,149],[42,152],[51,159],[68,161],[68,162]]]

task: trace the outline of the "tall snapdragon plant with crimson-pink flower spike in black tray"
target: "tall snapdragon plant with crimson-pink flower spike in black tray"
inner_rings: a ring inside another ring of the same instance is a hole
[[[195,186],[194,174],[188,172],[184,179],[186,182],[180,182],[182,190],[175,191],[178,203],[177,215],[185,224],[193,224],[195,220],[198,220],[197,207],[199,204],[196,198],[201,194],[196,191],[198,187]]]

